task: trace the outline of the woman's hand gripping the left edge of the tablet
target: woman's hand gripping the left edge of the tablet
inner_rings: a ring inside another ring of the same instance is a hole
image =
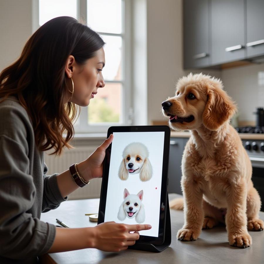
[[[79,172],[84,180],[88,181],[94,178],[100,178],[103,175],[103,161],[105,150],[113,141],[113,134],[107,138],[86,160],[77,165]]]

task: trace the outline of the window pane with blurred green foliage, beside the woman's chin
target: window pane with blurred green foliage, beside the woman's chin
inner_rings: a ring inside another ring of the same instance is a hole
[[[99,88],[97,92],[87,107],[89,125],[121,122],[122,85],[106,83],[105,87]]]

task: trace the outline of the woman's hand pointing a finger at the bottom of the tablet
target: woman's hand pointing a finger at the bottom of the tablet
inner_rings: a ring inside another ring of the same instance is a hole
[[[132,246],[139,238],[138,231],[151,229],[150,225],[105,222],[94,227],[93,247],[103,251],[121,251]],[[130,232],[133,233],[130,233]]]

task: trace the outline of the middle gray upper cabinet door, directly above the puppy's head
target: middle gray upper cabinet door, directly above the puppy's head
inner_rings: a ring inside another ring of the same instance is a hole
[[[211,0],[212,64],[245,59],[244,0]]]

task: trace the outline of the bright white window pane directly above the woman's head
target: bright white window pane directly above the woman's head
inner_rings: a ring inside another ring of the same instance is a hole
[[[57,16],[77,18],[77,0],[39,0],[39,25]]]

